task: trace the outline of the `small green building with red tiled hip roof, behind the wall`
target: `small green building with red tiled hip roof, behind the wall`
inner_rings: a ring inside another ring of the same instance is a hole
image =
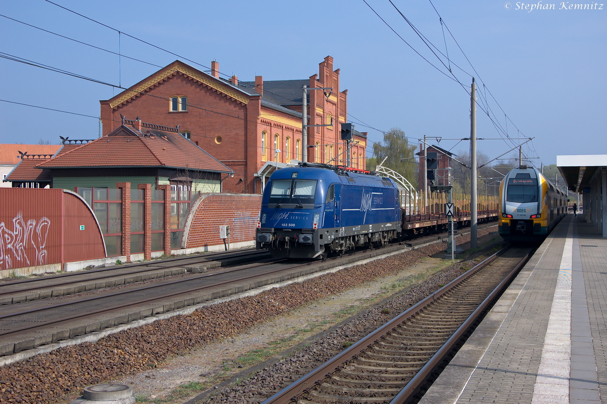
[[[52,188],[115,188],[130,182],[152,186],[181,184],[191,191],[220,192],[222,179],[232,170],[183,137],[178,128],[140,120],[124,120],[109,135],[81,145],[64,143],[52,159],[40,162],[47,169]]]

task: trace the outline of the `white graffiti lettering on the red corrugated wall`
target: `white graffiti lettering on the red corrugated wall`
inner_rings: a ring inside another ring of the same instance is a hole
[[[13,217],[13,229],[0,222],[0,268],[13,269],[44,265],[47,261],[46,241],[50,220],[42,216],[23,219],[22,212]]]

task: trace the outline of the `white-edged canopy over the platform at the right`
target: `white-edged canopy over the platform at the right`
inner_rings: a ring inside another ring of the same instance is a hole
[[[557,156],[557,168],[570,191],[581,193],[590,186],[594,174],[607,167],[607,154]]]

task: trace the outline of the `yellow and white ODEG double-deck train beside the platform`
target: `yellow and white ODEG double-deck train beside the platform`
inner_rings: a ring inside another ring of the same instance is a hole
[[[512,169],[500,183],[498,231],[506,241],[541,241],[567,214],[567,195],[534,167]]]

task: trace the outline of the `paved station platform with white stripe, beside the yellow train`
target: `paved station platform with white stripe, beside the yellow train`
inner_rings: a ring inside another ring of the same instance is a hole
[[[569,214],[420,404],[607,403],[607,238]]]

